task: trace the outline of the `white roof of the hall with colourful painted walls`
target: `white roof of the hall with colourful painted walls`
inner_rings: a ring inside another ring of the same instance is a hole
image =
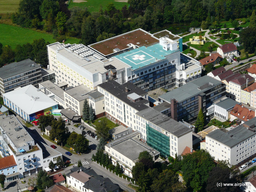
[[[43,92],[38,91],[33,85],[18,88],[3,94],[3,96],[27,114],[32,114],[58,104]]]

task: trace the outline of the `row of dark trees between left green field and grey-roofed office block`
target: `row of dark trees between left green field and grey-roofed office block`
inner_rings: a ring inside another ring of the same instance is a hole
[[[0,67],[11,62],[18,62],[30,58],[44,67],[48,64],[46,45],[50,44],[43,38],[34,40],[31,44],[17,45],[13,50],[8,45],[0,43]]]

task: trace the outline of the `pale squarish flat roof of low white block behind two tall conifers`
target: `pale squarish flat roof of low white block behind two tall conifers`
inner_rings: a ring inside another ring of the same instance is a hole
[[[66,90],[65,92],[73,98],[75,98],[76,100],[82,101],[88,98],[88,93],[90,93],[91,91],[92,90],[90,90],[90,88],[84,85],[79,85],[69,90]]]

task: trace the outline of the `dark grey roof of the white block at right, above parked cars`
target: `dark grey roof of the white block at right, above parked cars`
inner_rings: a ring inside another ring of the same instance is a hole
[[[245,122],[244,124],[248,126],[256,125],[256,118],[254,117],[251,120],[248,120],[247,122]],[[213,140],[216,140],[231,148],[256,134],[256,132],[254,132],[256,131],[256,127],[252,129],[250,128],[248,129],[244,127],[244,124],[236,126],[235,128],[233,128],[228,132],[224,132],[220,129],[217,129],[207,134],[206,137],[212,138]]]

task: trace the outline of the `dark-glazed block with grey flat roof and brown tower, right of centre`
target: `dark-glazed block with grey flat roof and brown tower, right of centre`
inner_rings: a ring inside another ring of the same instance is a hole
[[[159,96],[158,100],[170,104],[171,118],[174,120],[193,122],[201,108],[206,114],[206,105],[224,96],[226,86],[222,82],[210,76],[203,76]]]

